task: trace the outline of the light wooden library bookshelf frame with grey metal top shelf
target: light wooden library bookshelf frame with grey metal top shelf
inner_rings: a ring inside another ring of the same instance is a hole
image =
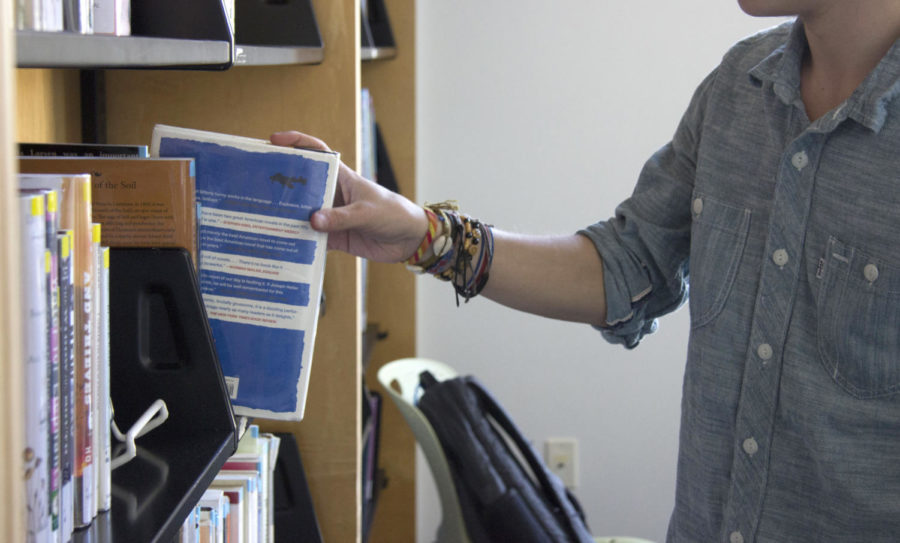
[[[14,179],[16,141],[81,141],[82,69],[104,69],[109,143],[149,143],[155,123],[267,138],[277,130],[314,134],[358,166],[359,92],[376,95],[378,119],[391,150],[401,192],[415,187],[415,2],[386,0],[396,52],[363,62],[359,0],[314,0],[324,47],[315,43],[265,46],[219,39],[146,36],[103,38],[35,36],[11,31],[13,3],[0,0],[0,167],[4,168],[3,236],[15,247]],[[177,6],[177,0],[165,2]],[[146,4],[146,3],[145,3]],[[202,4],[191,2],[185,4]],[[148,4],[149,5],[149,4]],[[207,4],[208,5],[208,4]],[[239,36],[240,37],[240,36]],[[70,42],[68,40],[77,40]],[[106,40],[115,41],[115,47]],[[240,40],[238,40],[240,41]],[[18,47],[18,52],[16,51]],[[227,58],[222,50],[227,50]],[[114,51],[113,51],[114,50]],[[231,65],[227,70],[221,70]],[[185,70],[196,67],[217,71]],[[18,68],[18,69],[17,69]],[[131,69],[139,68],[139,69]],[[144,68],[153,68],[150,70]],[[0,264],[0,301],[18,304],[15,258]],[[326,311],[319,323],[306,418],[300,423],[260,422],[263,430],[289,432],[303,455],[316,514],[326,541],[360,541],[360,386],[362,331],[359,329],[360,264],[340,253],[328,256]],[[368,371],[415,350],[414,279],[402,266],[370,265],[370,321],[388,333],[373,349]],[[21,372],[6,361],[19,359],[18,323],[0,316],[0,392],[9,413],[21,410]],[[374,386],[376,379],[367,379]],[[415,534],[414,441],[393,405],[385,403],[380,464],[387,473],[369,541],[413,541]],[[18,452],[21,423],[0,422],[0,507],[4,541],[24,540],[24,490]]]

